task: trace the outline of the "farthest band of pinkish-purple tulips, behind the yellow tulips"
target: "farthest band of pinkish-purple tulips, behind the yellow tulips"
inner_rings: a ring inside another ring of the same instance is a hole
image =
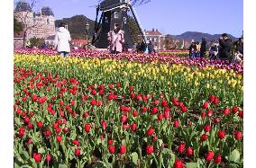
[[[54,56],[58,55],[57,51],[50,49],[15,49],[14,53],[23,55],[44,55]],[[84,58],[114,58],[117,60],[126,59],[133,62],[160,62],[165,64],[182,64],[184,66],[197,66],[200,69],[206,66],[215,66],[218,69],[233,69],[236,73],[243,73],[242,63],[232,63],[228,60],[210,60],[207,58],[190,59],[189,57],[177,57],[176,52],[169,54],[137,54],[137,53],[121,53],[118,55],[109,54],[106,51],[86,51],[83,49],[72,50],[69,53],[70,57],[84,57]]]

